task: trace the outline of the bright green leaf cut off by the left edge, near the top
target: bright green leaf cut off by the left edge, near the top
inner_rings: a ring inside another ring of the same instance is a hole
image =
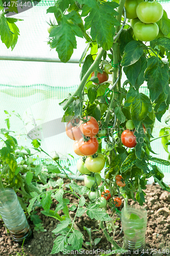
[[[4,42],[7,48],[10,48],[13,40],[13,32],[9,28],[4,13],[0,14],[0,35],[2,42]]]

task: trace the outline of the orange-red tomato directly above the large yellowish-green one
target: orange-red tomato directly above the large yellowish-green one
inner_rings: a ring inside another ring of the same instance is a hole
[[[99,142],[95,137],[91,137],[88,141],[83,141],[83,138],[81,138],[78,147],[83,155],[92,156],[98,151]]]

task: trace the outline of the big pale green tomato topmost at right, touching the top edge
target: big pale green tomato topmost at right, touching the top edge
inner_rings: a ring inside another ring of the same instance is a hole
[[[163,15],[163,7],[160,3],[153,1],[141,2],[136,7],[137,17],[143,23],[155,23],[161,19]]]

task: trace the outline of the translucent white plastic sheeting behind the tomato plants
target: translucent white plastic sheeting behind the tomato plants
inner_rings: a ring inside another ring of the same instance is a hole
[[[170,16],[170,2],[161,2],[163,8]],[[13,17],[24,19],[22,22],[17,22],[20,30],[20,36],[14,50],[11,52],[0,41],[0,56],[21,56],[21,57],[39,57],[39,58],[58,58],[55,49],[50,51],[50,46],[47,45],[48,32],[47,22],[54,20],[53,14],[46,14],[46,9],[53,6],[53,2],[40,2],[36,7],[16,14]],[[78,46],[74,50],[71,59],[79,60],[83,50],[86,47],[85,40],[77,38]],[[17,134],[17,140],[21,145],[31,146],[31,140],[22,134],[28,134],[35,125],[39,126],[48,121],[60,119],[63,116],[62,107],[59,102],[67,97],[68,92],[73,93],[77,84],[80,82],[81,68],[78,63],[50,63],[50,62],[32,62],[32,61],[9,61],[0,60],[0,127],[6,127],[5,118],[8,112],[15,111],[22,117],[23,122],[12,115],[10,118],[11,131]],[[111,79],[111,78],[110,78]],[[123,77],[125,80],[126,77]],[[141,87],[142,93],[148,93],[147,84]],[[148,93],[149,95],[149,93]],[[166,116],[166,114],[164,115]],[[154,137],[159,136],[159,131],[162,127],[167,126],[162,122],[156,121],[154,129]],[[56,130],[58,125],[56,125]],[[49,130],[52,127],[49,127]],[[62,126],[64,129],[64,126]],[[55,127],[53,127],[53,133]],[[72,143],[65,134],[60,133],[44,138],[42,129],[41,147],[48,154],[52,151],[59,153],[63,160],[67,159],[67,154],[75,157],[71,161],[71,170],[76,173],[76,161],[78,156],[72,150]],[[157,157],[167,159],[167,153],[161,145],[161,139],[152,142],[152,147]],[[39,154],[39,157],[44,158],[44,154]],[[169,167],[159,165],[165,175],[164,181],[170,183],[168,177]]]

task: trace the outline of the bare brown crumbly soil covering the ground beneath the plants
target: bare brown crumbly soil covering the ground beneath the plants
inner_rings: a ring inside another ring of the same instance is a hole
[[[67,181],[66,181],[67,182]],[[81,183],[80,183],[81,184]],[[170,256],[170,193],[167,191],[162,190],[159,185],[153,183],[152,185],[147,185],[147,189],[145,189],[145,204],[143,205],[148,212],[148,226],[146,232],[146,249],[148,249],[145,255],[159,255],[159,256]],[[66,194],[66,197],[70,200],[70,202],[74,202],[76,199],[69,194]],[[129,204],[134,204],[135,202],[129,200]],[[55,209],[56,201],[53,202],[52,208]],[[121,206],[119,207],[121,210]],[[33,238],[23,244],[23,254],[21,245],[15,243],[10,238],[10,233],[7,232],[3,220],[0,219],[0,255],[1,256],[18,256],[17,253],[20,255],[25,256],[61,256],[61,255],[71,255],[70,254],[63,254],[62,252],[56,254],[50,254],[53,248],[53,241],[56,239],[56,234],[52,233],[52,230],[56,228],[56,225],[59,223],[56,219],[51,217],[46,217],[41,214],[41,210],[38,210],[38,215],[40,216],[45,232],[37,232],[34,229],[33,223],[28,219],[30,226],[33,229]],[[108,214],[111,215],[112,212],[108,207]],[[62,215],[63,212],[60,211],[59,215]],[[74,212],[70,212],[70,216],[74,217]],[[111,228],[108,230],[110,232],[110,236],[114,236],[115,240],[117,241],[119,246],[123,245],[123,232],[120,233],[122,224],[120,219],[117,218],[115,225],[118,226],[115,231]],[[91,238],[92,243],[95,238],[102,238],[98,245],[94,246],[92,244],[92,248],[96,249],[103,249],[103,250],[110,250],[111,245],[108,243],[105,235],[103,234],[102,230],[99,229],[98,221],[91,220],[86,214],[82,217],[76,219],[76,224],[82,231],[85,242],[89,242],[89,236],[86,230],[83,229],[83,226],[87,228],[91,228]],[[58,235],[58,234],[57,234]],[[85,248],[85,247],[84,247]],[[90,247],[87,248],[90,250]],[[101,254],[101,253],[99,253]],[[83,255],[83,254],[82,254]],[[86,254],[84,255],[98,255],[95,253]]]

